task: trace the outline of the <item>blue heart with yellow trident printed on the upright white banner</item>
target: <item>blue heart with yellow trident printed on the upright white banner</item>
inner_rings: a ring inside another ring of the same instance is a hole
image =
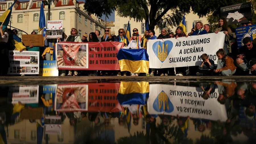
[[[172,41],[156,41],[153,44],[153,51],[155,53],[155,55],[158,57],[158,59],[161,62],[164,62],[164,60],[167,58],[167,56],[169,55],[170,51],[172,50],[173,47],[173,43]]]

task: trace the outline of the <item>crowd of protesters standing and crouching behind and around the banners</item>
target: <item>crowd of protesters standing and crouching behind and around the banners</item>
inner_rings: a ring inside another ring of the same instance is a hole
[[[218,64],[217,67],[214,65],[214,62],[207,57],[207,54],[203,54],[203,62],[198,66],[189,66],[189,67],[177,67],[177,68],[161,68],[155,69],[150,68],[149,73],[147,74],[134,74],[130,72],[120,72],[116,70],[59,70],[59,76],[185,76],[185,75],[197,75],[197,76],[214,76],[214,75],[223,75],[223,76],[231,76],[231,75],[250,75],[255,74],[256,69],[256,48],[255,44],[252,43],[249,37],[245,37],[242,40],[243,47],[238,49],[236,44],[236,35],[234,29],[228,27],[226,19],[220,18],[218,20],[219,27],[215,29],[214,33],[222,32],[226,34],[224,47],[220,48],[219,51],[216,52],[218,56]],[[249,22],[247,24],[243,24],[241,26],[251,25]],[[135,45],[129,45],[129,41],[133,41],[133,43],[137,43],[139,41],[139,48],[146,49],[147,42],[151,39],[167,39],[167,38],[179,38],[179,37],[188,37],[188,36],[197,36],[208,33],[213,33],[210,31],[210,25],[203,25],[202,22],[198,21],[195,24],[195,28],[191,29],[191,32],[186,35],[181,26],[178,26],[175,34],[168,33],[166,28],[162,28],[161,34],[157,37],[155,36],[154,30],[146,30],[144,32],[144,36],[142,37],[138,33],[138,29],[133,29],[133,34],[130,40],[125,36],[125,30],[120,28],[118,30],[117,36],[112,36],[110,34],[110,29],[105,28],[104,36],[100,37],[100,31],[95,30],[95,32],[91,32],[89,37],[87,34],[83,34],[82,37],[78,36],[78,31],[75,28],[71,29],[70,35],[67,36],[64,32],[62,34],[62,38],[48,39],[45,38],[44,47],[38,47],[31,44],[25,49],[17,49],[15,47],[16,41],[22,41],[17,36],[16,29],[7,29],[5,32],[2,30],[2,26],[0,26],[1,32],[1,53],[0,59],[2,61],[2,66],[0,69],[1,76],[8,75],[9,68],[9,58],[8,51],[9,50],[27,50],[27,51],[39,51],[40,52],[40,60],[52,60],[53,57],[53,49],[54,44],[61,41],[70,41],[70,42],[102,42],[102,41],[119,41],[124,42],[124,48],[133,49]],[[31,32],[31,34],[37,34],[36,32]],[[134,39],[134,37],[136,37]],[[87,40],[88,38],[88,40]],[[14,41],[14,39],[16,41]],[[138,47],[136,47],[138,48]],[[22,75],[24,76],[24,75]]]

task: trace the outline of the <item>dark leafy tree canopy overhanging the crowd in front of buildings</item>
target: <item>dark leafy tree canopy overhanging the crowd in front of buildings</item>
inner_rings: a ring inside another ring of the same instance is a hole
[[[89,14],[111,14],[113,10],[121,17],[134,19],[137,22],[149,23],[149,28],[155,26],[172,27],[180,23],[183,14],[192,9],[199,18],[212,13],[220,16],[220,7],[243,3],[246,0],[85,0],[84,9]],[[169,10],[172,14],[166,14]]]

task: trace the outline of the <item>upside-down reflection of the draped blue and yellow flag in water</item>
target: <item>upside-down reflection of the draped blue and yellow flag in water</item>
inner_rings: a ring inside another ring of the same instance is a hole
[[[117,95],[120,105],[146,105],[149,82],[121,82]]]

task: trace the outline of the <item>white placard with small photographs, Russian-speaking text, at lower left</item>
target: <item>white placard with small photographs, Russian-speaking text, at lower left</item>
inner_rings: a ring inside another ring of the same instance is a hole
[[[39,74],[39,51],[9,51],[9,74]]]

